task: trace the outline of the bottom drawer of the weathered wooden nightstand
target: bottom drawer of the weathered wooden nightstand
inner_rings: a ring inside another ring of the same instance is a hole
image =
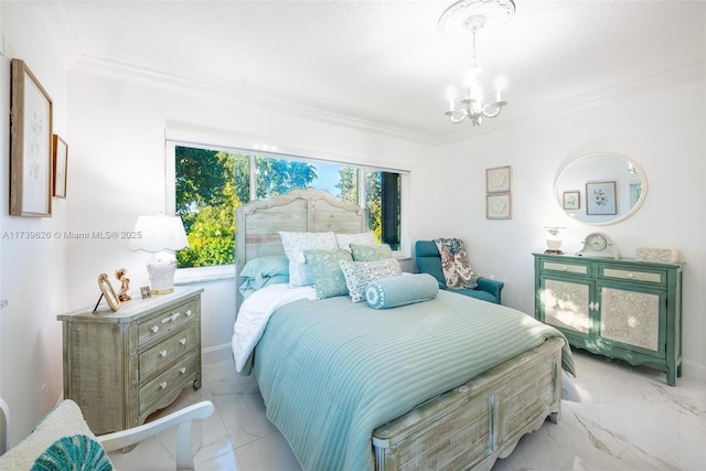
[[[167,397],[167,404],[169,404],[173,400],[170,393],[174,392],[178,395],[181,389],[186,387],[196,371],[196,354],[199,353],[190,353],[174,366],[140,387],[140,416],[164,407],[165,405],[160,404],[160,400],[164,400]]]

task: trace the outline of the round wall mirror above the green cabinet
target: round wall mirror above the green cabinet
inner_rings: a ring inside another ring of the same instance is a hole
[[[581,156],[557,175],[554,192],[570,217],[607,226],[633,215],[648,196],[648,178],[638,163],[612,152]]]

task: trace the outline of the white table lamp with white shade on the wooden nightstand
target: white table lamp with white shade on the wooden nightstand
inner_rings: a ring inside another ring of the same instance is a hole
[[[179,216],[139,216],[135,224],[135,235],[128,248],[152,253],[152,259],[147,265],[150,274],[151,293],[167,295],[174,290],[174,271],[176,257],[174,251],[189,247],[189,239],[184,224]]]

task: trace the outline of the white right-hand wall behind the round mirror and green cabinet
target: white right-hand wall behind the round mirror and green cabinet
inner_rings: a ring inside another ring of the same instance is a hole
[[[453,205],[439,211],[443,234],[469,243],[473,267],[505,281],[503,303],[533,313],[533,251],[544,251],[547,216],[560,214],[554,180],[573,158],[612,151],[645,171],[649,194],[640,211],[617,225],[589,227],[563,216],[564,250],[577,251],[596,229],[609,234],[623,257],[643,247],[675,247],[685,261],[683,295],[684,373],[706,376],[706,83],[700,78],[621,95],[561,116],[477,135],[441,148],[458,171],[443,172],[443,186],[467,202],[459,218]],[[541,110],[539,110],[541,111]],[[512,119],[512,104],[498,119]],[[484,215],[485,169],[512,165],[512,220]]]

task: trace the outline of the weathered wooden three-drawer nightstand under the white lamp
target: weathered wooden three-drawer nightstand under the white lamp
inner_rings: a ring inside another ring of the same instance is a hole
[[[202,288],[57,315],[63,323],[64,397],[96,433],[125,430],[201,387]]]

